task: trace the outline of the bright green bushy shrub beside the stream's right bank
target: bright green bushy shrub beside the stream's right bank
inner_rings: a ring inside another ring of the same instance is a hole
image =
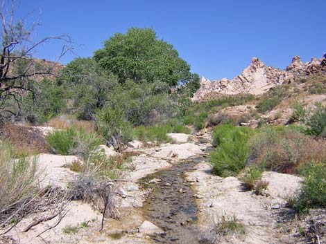
[[[218,147],[209,155],[213,172],[218,176],[234,176],[245,166],[250,153],[247,144],[251,130],[230,124],[218,126],[214,131],[214,143]]]

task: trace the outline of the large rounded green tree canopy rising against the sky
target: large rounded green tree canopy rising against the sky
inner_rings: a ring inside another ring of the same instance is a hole
[[[119,82],[166,82],[175,86],[191,77],[190,66],[166,41],[157,39],[151,28],[130,28],[117,33],[96,50],[94,59],[105,71],[117,75]]]

